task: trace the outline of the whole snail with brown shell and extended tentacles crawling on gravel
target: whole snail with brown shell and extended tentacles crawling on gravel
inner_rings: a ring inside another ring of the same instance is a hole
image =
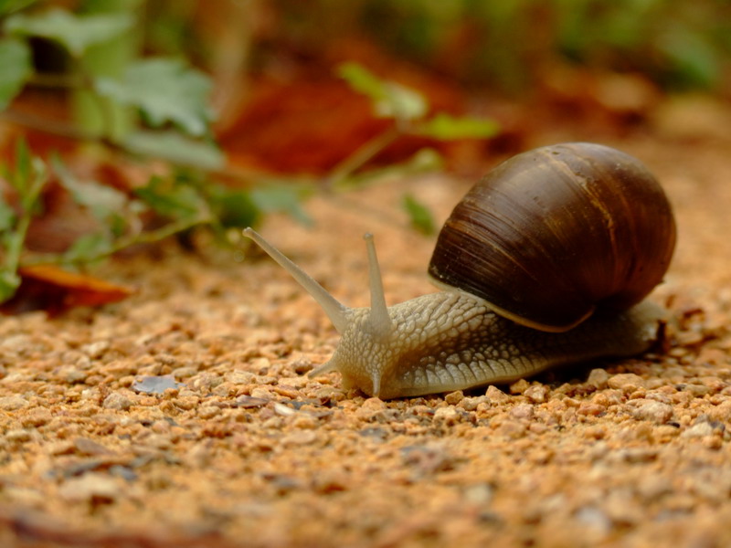
[[[555,365],[648,350],[666,311],[644,300],[673,256],[662,187],[629,154],[588,142],[520,153],[475,184],[440,231],[442,291],[387,308],[365,235],[370,308],[348,308],[251,228],[244,230],[341,333],[311,376],[383,399],[514,381]]]

